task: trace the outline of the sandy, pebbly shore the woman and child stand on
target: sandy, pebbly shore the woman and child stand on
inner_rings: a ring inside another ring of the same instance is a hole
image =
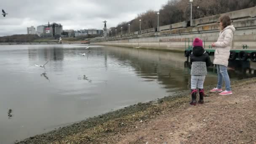
[[[190,144],[256,142],[256,78],[232,82],[233,95],[189,91],[89,118],[17,144]],[[209,88],[206,88],[207,91]]]

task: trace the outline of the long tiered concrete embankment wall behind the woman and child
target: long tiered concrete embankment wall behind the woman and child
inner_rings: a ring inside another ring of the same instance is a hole
[[[194,19],[191,26],[190,21],[183,21],[117,37],[97,37],[91,40],[91,44],[184,51],[188,40],[191,45],[193,38],[200,37],[205,41],[205,48],[208,48],[219,37],[217,22],[222,15],[230,16],[236,28],[233,49],[242,49],[243,45],[248,45],[249,49],[256,50],[256,7]]]

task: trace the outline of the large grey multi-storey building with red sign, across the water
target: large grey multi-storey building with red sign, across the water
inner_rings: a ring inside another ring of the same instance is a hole
[[[43,28],[43,34],[41,34],[43,37],[60,37],[62,32],[62,25],[52,23],[50,24],[48,22],[47,25],[44,25]]]

